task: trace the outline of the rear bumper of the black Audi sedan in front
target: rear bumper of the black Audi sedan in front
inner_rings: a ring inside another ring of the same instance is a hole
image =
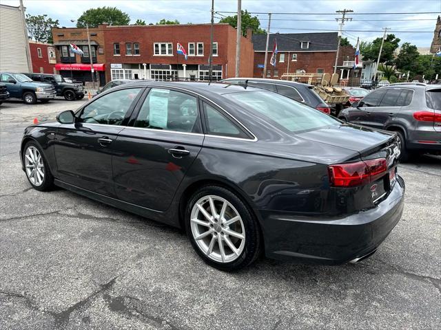
[[[376,208],[347,217],[290,216],[261,211],[265,254],[271,259],[336,265],[374,252],[400,220],[404,181]]]

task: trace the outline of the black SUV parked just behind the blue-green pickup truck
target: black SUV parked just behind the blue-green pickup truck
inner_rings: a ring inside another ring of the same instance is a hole
[[[68,101],[81,100],[84,98],[84,89],[81,84],[67,83],[59,74],[26,74],[34,81],[48,83],[54,86],[57,96],[64,96]]]

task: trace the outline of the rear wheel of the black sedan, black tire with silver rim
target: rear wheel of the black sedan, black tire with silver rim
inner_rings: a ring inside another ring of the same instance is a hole
[[[240,270],[260,254],[257,220],[234,192],[220,186],[203,186],[194,192],[185,208],[185,230],[196,253],[218,270]]]

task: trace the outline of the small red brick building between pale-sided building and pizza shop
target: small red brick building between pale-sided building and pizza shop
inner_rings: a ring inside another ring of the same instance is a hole
[[[57,74],[57,52],[50,43],[29,41],[30,57],[32,58],[32,72],[40,74]]]

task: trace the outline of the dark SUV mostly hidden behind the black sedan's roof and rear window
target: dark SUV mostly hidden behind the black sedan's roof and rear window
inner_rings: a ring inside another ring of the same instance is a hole
[[[307,84],[295,83],[294,81],[264,79],[264,78],[228,78],[220,80],[220,83],[229,85],[240,85],[258,87],[274,91],[282,94],[292,100],[305,103],[309,107],[330,114],[331,108],[318,94],[314,91],[314,87]]]

